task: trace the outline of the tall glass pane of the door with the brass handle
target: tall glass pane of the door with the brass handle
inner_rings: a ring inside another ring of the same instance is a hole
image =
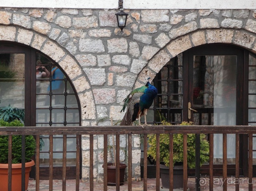
[[[194,56],[193,121],[196,125],[236,124],[236,56]],[[228,163],[235,162],[235,136],[227,135]],[[222,163],[222,135],[214,134],[214,163]]]

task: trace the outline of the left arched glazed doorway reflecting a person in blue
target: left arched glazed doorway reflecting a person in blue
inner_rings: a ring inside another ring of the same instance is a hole
[[[40,51],[0,42],[1,103],[23,110],[25,126],[79,126],[78,95],[68,75]],[[80,139],[81,140],[81,139]],[[54,178],[61,178],[62,135],[53,136]],[[49,136],[40,136],[40,179],[49,176]],[[67,137],[67,178],[75,177],[76,138]]]

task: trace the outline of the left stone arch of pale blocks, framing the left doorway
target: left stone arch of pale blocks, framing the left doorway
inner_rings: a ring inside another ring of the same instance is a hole
[[[67,50],[42,34],[16,26],[0,25],[0,40],[29,45],[58,63],[69,76],[75,91],[78,93],[82,125],[89,125],[89,122],[85,120],[96,118],[96,107],[91,85],[80,65]]]

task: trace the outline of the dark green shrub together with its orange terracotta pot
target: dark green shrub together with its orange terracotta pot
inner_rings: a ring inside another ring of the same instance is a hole
[[[19,120],[5,122],[0,120],[0,126],[22,127]],[[35,154],[36,142],[32,135],[25,136],[25,190],[28,189],[29,173],[35,162],[30,158]],[[2,191],[8,190],[8,136],[0,136],[0,185]],[[12,191],[21,190],[21,135],[12,136]]]

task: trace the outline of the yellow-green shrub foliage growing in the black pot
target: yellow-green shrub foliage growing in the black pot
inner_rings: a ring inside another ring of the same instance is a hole
[[[162,121],[161,125],[171,125]],[[180,125],[193,125],[193,122],[182,122]],[[169,166],[169,134],[160,134],[160,163]],[[148,136],[148,155],[156,160],[156,135]],[[209,142],[205,134],[200,134],[200,166],[209,161]],[[173,135],[173,164],[183,163],[183,134]],[[195,134],[187,134],[187,165],[195,168]]]

